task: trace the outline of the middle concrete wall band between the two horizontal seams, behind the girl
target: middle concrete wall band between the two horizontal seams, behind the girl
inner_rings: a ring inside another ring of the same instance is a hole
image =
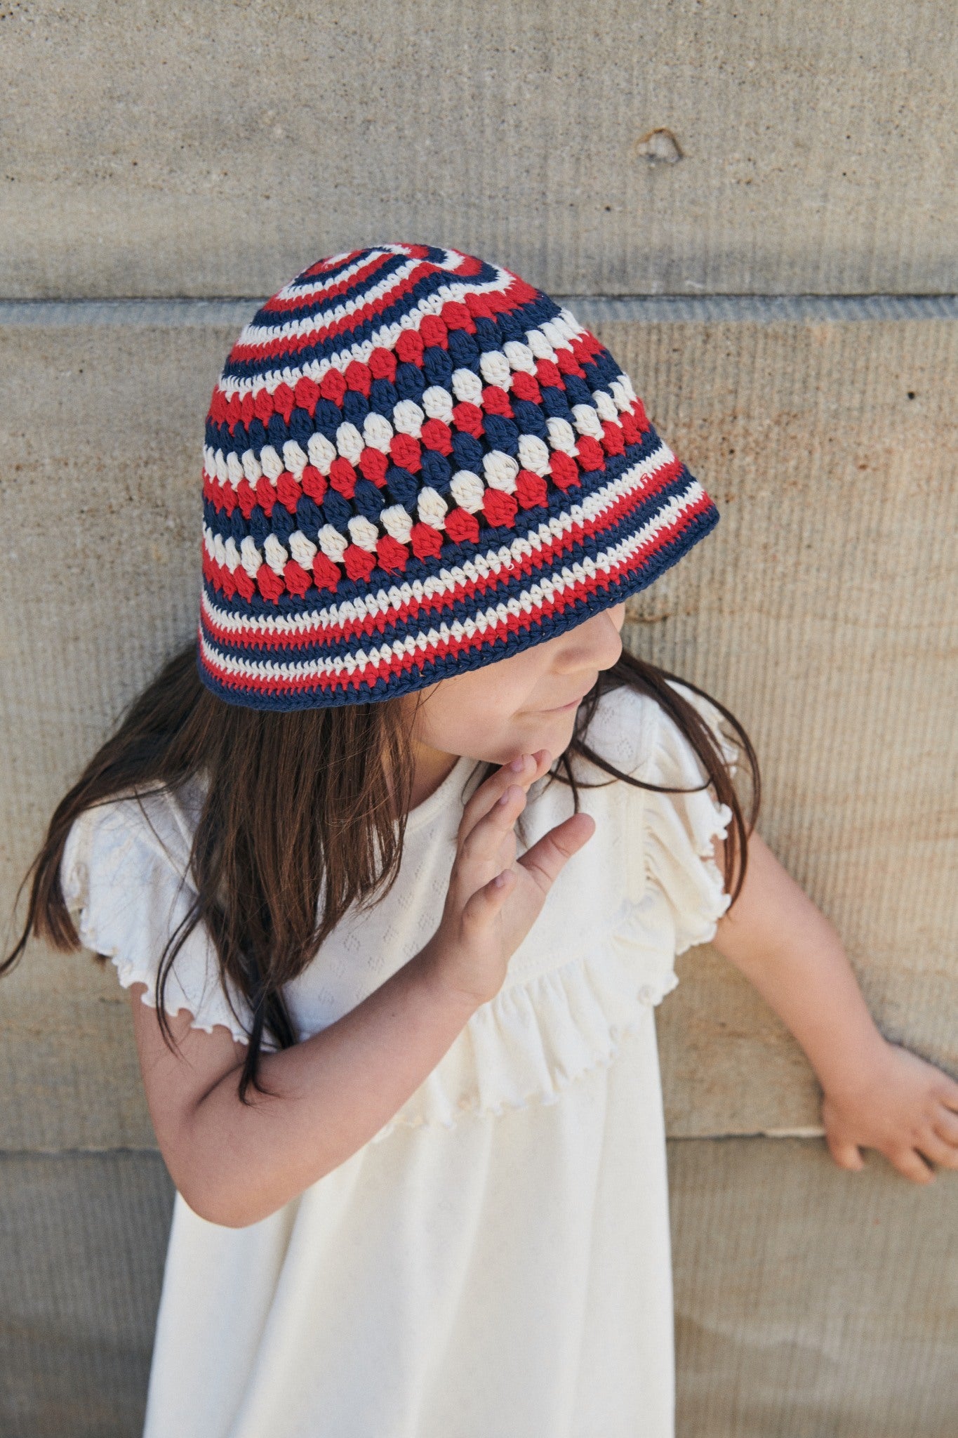
[[[16,536],[4,913],[66,784],[192,631],[201,417],[234,326],[174,315],[0,334],[16,394],[0,444]],[[885,1031],[958,1073],[958,325],[597,328],[722,513],[638,600],[629,641],[740,715],[764,768],[763,834],[834,919]],[[662,1008],[671,1132],[814,1125],[807,1066],[753,991],[708,951],[681,972]],[[152,1142],[112,969],[33,952],[0,1005],[0,1145]]]

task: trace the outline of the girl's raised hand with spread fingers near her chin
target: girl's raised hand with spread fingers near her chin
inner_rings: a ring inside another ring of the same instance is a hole
[[[516,860],[516,821],[550,764],[546,749],[520,755],[480,785],[462,814],[442,919],[419,958],[470,1007],[498,994],[553,881],[595,833],[595,820],[573,814]]]

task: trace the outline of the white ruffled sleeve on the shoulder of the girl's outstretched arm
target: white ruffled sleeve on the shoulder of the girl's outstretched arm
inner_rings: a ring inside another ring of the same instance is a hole
[[[672,687],[698,710],[714,733],[731,772],[738,751],[721,729],[718,710],[685,684]],[[646,784],[695,789],[708,778],[698,755],[659,706],[645,761],[636,777]],[[675,928],[675,953],[708,943],[731,902],[712,854],[712,840],[725,838],[733,812],[711,788],[692,794],[643,794],[643,858],[646,883],[665,899]]]

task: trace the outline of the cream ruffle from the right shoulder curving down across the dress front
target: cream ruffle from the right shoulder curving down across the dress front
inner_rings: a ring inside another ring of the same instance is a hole
[[[734,766],[735,751],[717,712],[688,697],[714,729]],[[674,722],[659,710],[651,752],[633,771],[648,784],[694,789],[707,778]],[[583,956],[503,988],[473,1014],[438,1066],[372,1139],[398,1127],[441,1125],[464,1114],[501,1116],[554,1103],[576,1080],[608,1067],[622,1040],[678,979],[672,958],[715,935],[730,905],[712,840],[725,838],[733,812],[710,789],[658,794],[632,789],[633,834],[643,856],[643,894],[616,916]],[[636,861],[642,863],[642,860]]]

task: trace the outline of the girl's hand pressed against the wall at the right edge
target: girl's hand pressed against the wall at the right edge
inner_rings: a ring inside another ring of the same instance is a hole
[[[839,1168],[863,1168],[869,1148],[915,1183],[931,1183],[931,1163],[958,1169],[958,1083],[896,1044],[855,1090],[826,1090],[822,1117]]]

